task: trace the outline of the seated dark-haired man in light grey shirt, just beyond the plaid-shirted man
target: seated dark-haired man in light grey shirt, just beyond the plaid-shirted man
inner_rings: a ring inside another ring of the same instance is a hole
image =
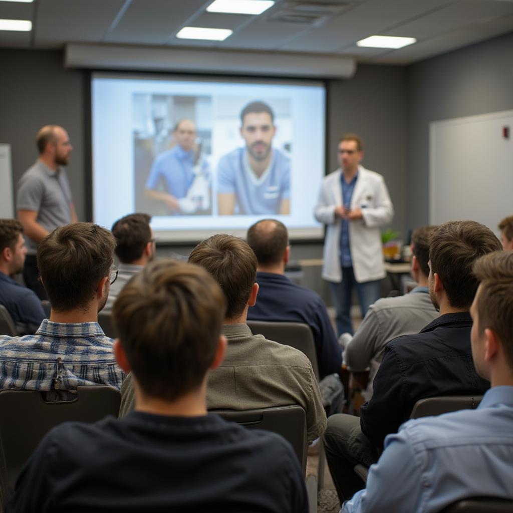
[[[112,225],[112,234],[116,239],[114,253],[120,260],[117,278],[109,290],[104,311],[112,310],[114,301],[134,274],[140,272],[153,259],[155,240],[150,227],[148,214],[129,214],[118,219]]]

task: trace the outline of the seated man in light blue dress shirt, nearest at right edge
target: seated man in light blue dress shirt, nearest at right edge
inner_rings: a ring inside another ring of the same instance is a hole
[[[474,265],[472,358],[490,381],[476,410],[410,420],[385,439],[344,513],[441,511],[468,497],[513,499],[513,252]],[[398,464],[400,462],[400,464]]]

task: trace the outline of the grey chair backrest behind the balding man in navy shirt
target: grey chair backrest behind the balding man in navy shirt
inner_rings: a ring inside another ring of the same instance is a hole
[[[319,366],[315,341],[310,326],[299,322],[247,321],[253,335],[263,335],[267,340],[295,347],[304,352],[312,364],[313,372],[319,381]]]

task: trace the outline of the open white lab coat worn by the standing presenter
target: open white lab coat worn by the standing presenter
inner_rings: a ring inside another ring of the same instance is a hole
[[[335,208],[342,206],[342,170],[324,177],[315,219],[326,224],[322,277],[330,282],[342,281],[339,256],[340,219]],[[363,220],[349,222],[349,247],[354,277],[358,283],[385,277],[380,226],[393,218],[393,205],[381,174],[358,167],[358,179],[351,197],[351,209],[361,208]]]

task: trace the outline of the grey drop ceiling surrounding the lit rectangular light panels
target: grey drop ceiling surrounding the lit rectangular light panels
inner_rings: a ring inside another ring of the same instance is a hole
[[[29,19],[31,32],[0,32],[0,47],[67,43],[330,54],[361,63],[411,64],[513,31],[513,0],[277,0],[260,16],[206,12],[204,0],[0,1],[0,18]],[[184,26],[226,28],[223,42],[179,40]],[[360,48],[373,34],[416,37],[399,50]]]

